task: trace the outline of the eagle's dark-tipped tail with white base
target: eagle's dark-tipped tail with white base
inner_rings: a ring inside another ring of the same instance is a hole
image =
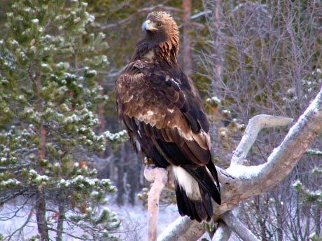
[[[215,177],[205,166],[196,169],[173,166],[172,170],[176,202],[181,216],[187,215],[199,222],[210,221],[213,216],[211,198],[221,204]]]

